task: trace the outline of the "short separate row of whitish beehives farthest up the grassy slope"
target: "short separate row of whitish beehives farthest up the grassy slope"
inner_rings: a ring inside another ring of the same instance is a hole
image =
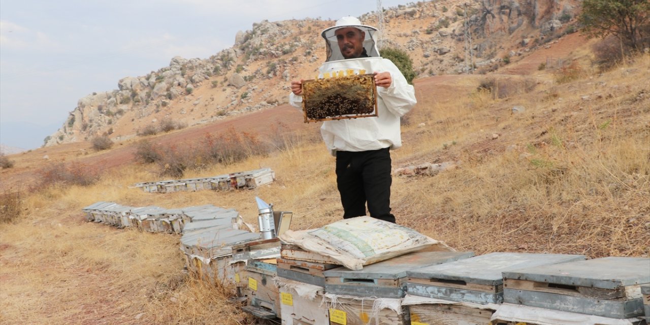
[[[144,192],[169,193],[195,190],[239,190],[252,189],[271,183],[276,178],[271,168],[261,168],[212,177],[168,179],[165,181],[142,182],[133,184]]]

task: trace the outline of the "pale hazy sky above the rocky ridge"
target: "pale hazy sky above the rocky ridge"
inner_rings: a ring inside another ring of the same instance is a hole
[[[372,0],[2,0],[0,143],[38,148],[78,99],[176,55],[207,59],[263,19],[338,19],[376,8]]]

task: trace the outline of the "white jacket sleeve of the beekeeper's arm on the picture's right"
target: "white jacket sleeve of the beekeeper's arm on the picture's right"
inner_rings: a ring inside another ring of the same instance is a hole
[[[383,59],[383,68],[391,73],[393,83],[388,88],[377,87],[377,95],[382,98],[387,109],[396,116],[404,116],[415,106],[415,88],[406,82],[402,72],[391,60]]]

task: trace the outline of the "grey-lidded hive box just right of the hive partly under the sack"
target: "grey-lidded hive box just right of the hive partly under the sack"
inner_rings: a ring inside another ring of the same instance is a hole
[[[584,259],[584,255],[489,253],[409,270],[406,291],[415,296],[456,302],[500,304],[503,300],[501,272]]]

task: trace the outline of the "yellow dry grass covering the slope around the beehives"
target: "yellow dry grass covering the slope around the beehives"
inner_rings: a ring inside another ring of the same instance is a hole
[[[420,94],[394,167],[460,165],[435,176],[394,177],[398,222],[476,253],[649,255],[650,89],[636,82],[649,72],[645,55],[561,85],[548,75],[534,90],[503,99],[476,92],[480,76],[439,85],[451,90],[447,97]],[[526,110],[513,114],[514,105]],[[96,201],[210,203],[257,224],[259,196],[293,211],[293,229],[319,227],[342,214],[334,159],[320,141],[304,138],[265,157],[185,175],[271,167],[277,180],[254,190],[144,193],[129,185],[157,176],[136,165],[90,187],[25,194],[22,219],[0,225],[0,322],[252,324],[227,303],[227,289],[183,272],[178,235],[88,223],[81,208]]]

